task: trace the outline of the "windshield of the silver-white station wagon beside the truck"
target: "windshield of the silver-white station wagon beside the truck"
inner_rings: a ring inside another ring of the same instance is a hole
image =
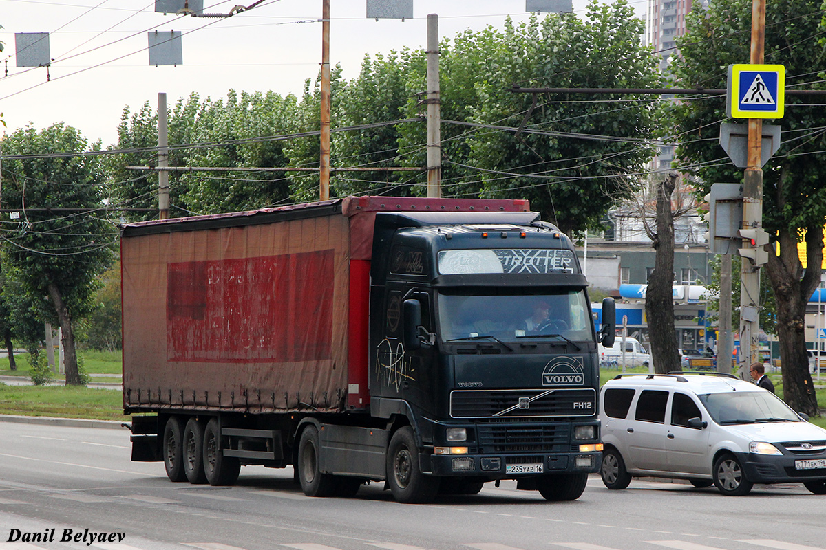
[[[720,425],[800,422],[795,411],[769,392],[707,393],[698,397]]]

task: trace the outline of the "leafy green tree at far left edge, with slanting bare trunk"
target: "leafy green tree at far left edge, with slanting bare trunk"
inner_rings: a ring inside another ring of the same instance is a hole
[[[82,384],[74,319],[88,313],[97,275],[112,265],[117,239],[103,215],[100,162],[78,154],[88,149],[87,140],[62,124],[19,129],[3,144],[12,159],[3,163],[2,204],[21,214],[7,221],[7,265],[26,299],[50,303],[44,320],[62,331],[66,384]],[[35,210],[47,208],[53,210]]]

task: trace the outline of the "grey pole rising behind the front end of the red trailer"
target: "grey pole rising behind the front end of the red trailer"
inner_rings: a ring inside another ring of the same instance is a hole
[[[439,92],[439,16],[427,16],[427,196],[442,196],[441,97]]]

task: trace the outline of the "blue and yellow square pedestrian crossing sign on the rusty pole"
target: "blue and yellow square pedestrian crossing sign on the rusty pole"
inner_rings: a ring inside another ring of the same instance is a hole
[[[735,119],[783,118],[783,65],[729,65],[727,114]]]

